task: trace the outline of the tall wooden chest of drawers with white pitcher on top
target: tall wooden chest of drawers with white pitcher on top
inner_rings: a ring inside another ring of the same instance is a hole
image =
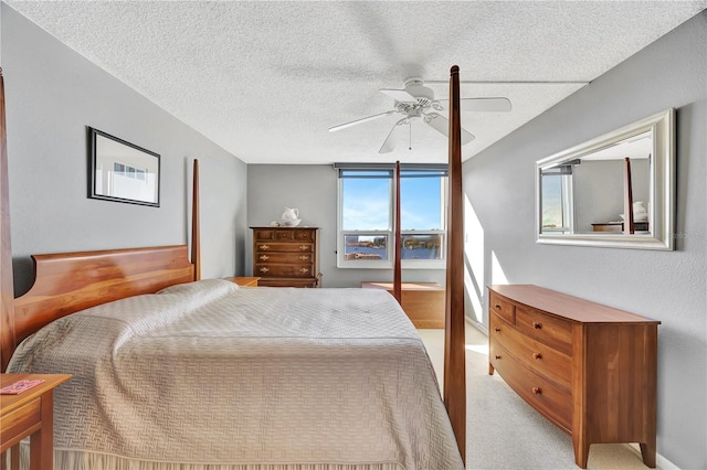
[[[320,287],[319,228],[251,227],[253,276],[265,287]]]

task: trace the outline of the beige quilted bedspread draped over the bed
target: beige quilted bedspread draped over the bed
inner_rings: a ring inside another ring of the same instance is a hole
[[[386,291],[175,286],[53,322],[9,372],[73,374],[54,444],[76,468],[463,468]]]

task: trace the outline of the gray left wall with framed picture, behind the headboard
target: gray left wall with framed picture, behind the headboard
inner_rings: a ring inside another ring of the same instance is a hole
[[[15,291],[31,286],[31,254],[187,243],[194,158],[202,277],[243,274],[246,165],[1,8]],[[87,199],[86,126],[161,156],[160,207]]]

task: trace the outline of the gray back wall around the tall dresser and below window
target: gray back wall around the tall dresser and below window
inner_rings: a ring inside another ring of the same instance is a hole
[[[284,206],[297,207],[302,225],[320,227],[319,268],[324,287],[359,287],[362,280],[391,281],[392,269],[336,267],[337,172],[329,164],[249,164],[247,223],[268,225],[279,218]],[[247,246],[252,244],[247,234]],[[252,250],[246,255],[252,274]],[[403,269],[403,281],[445,284],[444,269]]]

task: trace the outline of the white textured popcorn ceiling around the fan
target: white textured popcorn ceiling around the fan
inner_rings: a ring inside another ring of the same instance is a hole
[[[379,154],[398,115],[380,88],[421,76],[464,113],[467,159],[707,8],[698,1],[7,1],[247,163],[446,161],[421,121]],[[124,136],[128,138],[129,136]],[[412,150],[409,150],[409,140]]]

